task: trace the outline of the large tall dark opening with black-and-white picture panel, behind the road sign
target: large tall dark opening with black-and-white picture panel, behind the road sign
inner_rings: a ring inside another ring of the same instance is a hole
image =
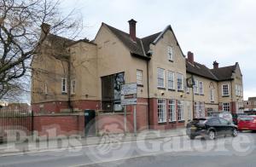
[[[102,77],[102,109],[107,112],[122,112],[121,85],[125,83],[125,73],[119,72]]]

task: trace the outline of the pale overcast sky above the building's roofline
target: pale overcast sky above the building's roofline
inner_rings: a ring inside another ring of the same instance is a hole
[[[183,53],[212,68],[239,62],[244,99],[256,96],[256,1],[254,0],[65,0],[65,10],[83,15],[83,37],[93,39],[102,22],[128,32],[137,20],[137,37],[172,26]]]

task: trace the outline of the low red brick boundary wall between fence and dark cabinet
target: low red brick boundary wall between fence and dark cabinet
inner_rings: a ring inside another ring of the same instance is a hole
[[[36,115],[33,129],[40,136],[83,135],[84,115]],[[47,130],[53,130],[53,134],[49,134]]]

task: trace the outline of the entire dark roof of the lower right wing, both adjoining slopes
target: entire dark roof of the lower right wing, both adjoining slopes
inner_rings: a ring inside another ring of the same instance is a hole
[[[232,73],[236,71],[236,65],[209,69],[207,66],[201,65],[198,62],[194,61],[194,65],[192,65],[189,60],[186,60],[187,72],[216,81],[233,79]]]

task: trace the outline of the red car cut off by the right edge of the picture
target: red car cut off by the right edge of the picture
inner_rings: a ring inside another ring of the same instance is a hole
[[[256,131],[256,115],[244,115],[238,118],[238,130]]]

